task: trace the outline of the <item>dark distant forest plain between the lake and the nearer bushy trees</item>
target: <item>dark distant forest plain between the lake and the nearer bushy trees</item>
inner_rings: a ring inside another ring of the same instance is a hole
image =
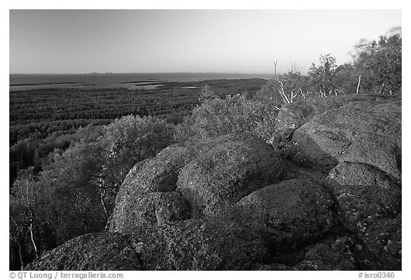
[[[248,90],[253,95],[263,79],[213,80],[166,83],[153,90],[49,88],[11,91],[10,182],[19,170],[34,166],[34,173],[49,165],[47,155],[60,153],[80,139],[96,141],[102,125],[124,115],[157,116],[168,123],[181,123],[198,104],[200,88],[218,89],[219,96]],[[186,88],[188,87],[188,88]],[[46,100],[46,101],[45,101]]]

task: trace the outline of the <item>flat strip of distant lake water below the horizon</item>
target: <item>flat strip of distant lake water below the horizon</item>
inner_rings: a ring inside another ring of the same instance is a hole
[[[33,88],[156,88],[161,84],[160,82],[241,78],[269,79],[273,78],[273,75],[244,73],[10,74],[9,90],[29,90]],[[149,85],[149,83],[155,83],[155,85]]]

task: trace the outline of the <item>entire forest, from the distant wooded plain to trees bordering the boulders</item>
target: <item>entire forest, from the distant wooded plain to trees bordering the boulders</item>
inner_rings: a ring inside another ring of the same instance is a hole
[[[268,141],[281,106],[341,94],[401,93],[400,29],[273,79],[173,83],[154,90],[10,92],[10,269],[99,232],[131,168],[188,138],[252,133]],[[183,88],[186,86],[197,88]]]

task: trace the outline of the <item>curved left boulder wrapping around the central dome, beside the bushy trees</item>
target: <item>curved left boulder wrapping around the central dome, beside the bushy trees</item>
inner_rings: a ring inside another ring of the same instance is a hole
[[[118,191],[108,229],[128,234],[144,223],[162,224],[186,219],[188,205],[179,193],[174,192],[178,173],[201,150],[210,147],[209,143],[201,141],[183,142],[136,164]]]

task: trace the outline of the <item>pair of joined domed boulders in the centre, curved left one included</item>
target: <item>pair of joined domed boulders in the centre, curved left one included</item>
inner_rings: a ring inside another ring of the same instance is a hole
[[[168,147],[134,167],[116,198],[109,229],[215,216],[260,187],[278,182],[283,164],[253,135],[225,135]]]

